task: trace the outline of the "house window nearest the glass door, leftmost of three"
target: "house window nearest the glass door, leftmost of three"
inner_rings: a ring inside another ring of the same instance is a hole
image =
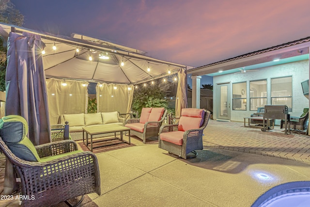
[[[233,110],[247,110],[247,82],[233,83]]]

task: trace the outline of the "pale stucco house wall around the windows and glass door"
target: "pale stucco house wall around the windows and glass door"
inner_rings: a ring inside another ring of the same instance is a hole
[[[270,81],[272,78],[292,76],[293,82],[293,104],[292,112],[293,116],[299,116],[302,114],[304,108],[308,108],[309,100],[303,95],[301,82],[309,79],[309,60],[298,61],[288,64],[279,64],[275,66],[269,66],[260,68],[259,71],[238,73],[238,74],[227,74],[222,76],[215,76],[213,78],[213,112],[214,118],[217,117],[217,83],[230,82],[232,91],[232,84],[237,82],[247,81],[247,97],[249,102],[249,81],[251,80],[267,80],[267,105],[270,105]],[[231,97],[232,103],[232,97]],[[244,117],[250,116],[250,114],[255,111],[249,111],[249,103],[247,105],[246,111],[234,111],[232,107],[231,110],[231,120],[232,121],[243,121]],[[277,124],[277,123],[276,123]]]

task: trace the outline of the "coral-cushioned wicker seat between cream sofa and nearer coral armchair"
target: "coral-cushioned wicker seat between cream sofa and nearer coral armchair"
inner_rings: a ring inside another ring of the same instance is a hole
[[[143,108],[143,109],[151,109],[151,108]],[[145,112],[143,112],[143,109],[141,112],[140,119],[145,114]],[[151,109],[150,112],[163,108],[153,108],[153,109]],[[145,143],[146,139],[148,138],[158,137],[159,128],[161,127],[161,124],[167,115],[167,110],[163,109],[163,111],[164,112],[157,119],[159,121],[147,121],[145,123],[141,123],[140,119],[128,119],[125,127],[129,127],[130,134],[139,137],[143,141],[143,143]]]

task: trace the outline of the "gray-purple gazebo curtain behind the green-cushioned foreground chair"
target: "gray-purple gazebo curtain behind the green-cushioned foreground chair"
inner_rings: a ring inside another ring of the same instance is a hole
[[[47,87],[41,51],[41,36],[10,32],[6,68],[5,115],[20,115],[29,125],[34,145],[51,142]]]

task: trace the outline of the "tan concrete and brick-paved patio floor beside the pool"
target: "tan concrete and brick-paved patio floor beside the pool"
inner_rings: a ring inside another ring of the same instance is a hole
[[[203,140],[194,159],[133,137],[136,146],[96,154],[101,195],[83,206],[250,207],[275,186],[310,180],[310,136],[210,120]]]

